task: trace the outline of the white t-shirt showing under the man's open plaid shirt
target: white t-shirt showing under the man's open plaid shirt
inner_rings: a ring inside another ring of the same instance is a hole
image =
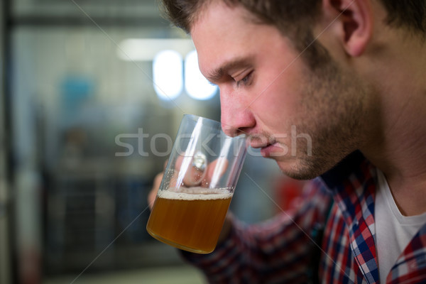
[[[416,216],[403,216],[399,211],[388,182],[377,170],[378,186],[375,201],[376,248],[381,283],[413,236],[426,223],[426,212]]]

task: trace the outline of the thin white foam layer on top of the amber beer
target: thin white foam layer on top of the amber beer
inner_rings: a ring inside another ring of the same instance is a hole
[[[158,191],[158,197],[168,200],[221,200],[232,195],[227,188],[181,187]]]

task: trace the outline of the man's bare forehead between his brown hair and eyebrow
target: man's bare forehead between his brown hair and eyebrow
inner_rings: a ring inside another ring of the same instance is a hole
[[[212,1],[202,9],[191,35],[204,75],[225,63],[261,53],[268,40],[281,38],[277,28],[255,23],[246,9],[223,1]]]

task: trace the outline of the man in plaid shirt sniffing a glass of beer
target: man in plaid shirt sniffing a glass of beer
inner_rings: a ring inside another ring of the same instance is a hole
[[[163,2],[224,131],[315,178],[297,211],[229,217],[213,253],[185,258],[211,283],[426,283],[426,1]]]

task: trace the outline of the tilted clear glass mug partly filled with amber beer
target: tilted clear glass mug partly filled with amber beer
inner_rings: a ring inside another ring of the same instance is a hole
[[[148,219],[151,236],[195,253],[214,250],[246,156],[245,136],[185,115]]]

